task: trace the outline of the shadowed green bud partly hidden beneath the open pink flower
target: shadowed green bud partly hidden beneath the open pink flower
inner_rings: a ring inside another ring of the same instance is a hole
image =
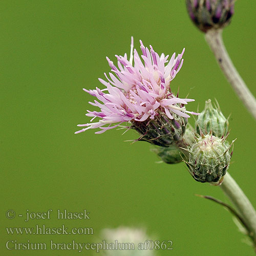
[[[156,147],[152,149],[165,163],[180,163],[182,161],[182,152],[176,145],[168,147]]]

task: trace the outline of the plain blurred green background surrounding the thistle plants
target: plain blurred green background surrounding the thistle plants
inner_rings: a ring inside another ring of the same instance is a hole
[[[225,80],[203,34],[190,22],[184,1],[1,1],[1,255],[77,255],[79,252],[7,250],[8,240],[33,243],[95,242],[105,227],[143,226],[158,240],[173,240],[159,255],[253,255],[231,215],[198,198],[228,200],[218,187],[193,180],[183,163],[157,164],[146,142],[132,131],[93,130],[82,88],[103,88],[98,77],[115,54],[139,39],[158,52],[180,53],[184,65],[172,83],[180,97],[195,98],[189,110],[217,98],[230,113],[229,139],[238,138],[229,172],[256,206],[255,122]],[[237,1],[224,31],[229,54],[255,95],[254,0]],[[193,121],[193,118],[190,118]],[[8,220],[16,214],[53,209],[51,220]],[[56,209],[90,211],[90,220],[56,220]],[[5,227],[93,227],[88,236],[7,235]],[[93,251],[82,251],[92,255]]]

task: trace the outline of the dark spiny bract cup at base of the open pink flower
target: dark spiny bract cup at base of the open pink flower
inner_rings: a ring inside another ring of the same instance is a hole
[[[186,130],[187,118],[172,113],[174,119],[169,119],[164,113],[149,121],[134,121],[131,128],[141,137],[138,140],[151,144],[168,147],[182,139]]]

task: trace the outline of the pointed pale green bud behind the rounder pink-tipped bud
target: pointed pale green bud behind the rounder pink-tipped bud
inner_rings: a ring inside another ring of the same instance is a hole
[[[212,135],[219,138],[227,135],[228,119],[222,114],[218,102],[214,108],[210,99],[205,101],[205,108],[196,121],[196,131],[198,134],[200,134],[200,131],[205,134],[211,131]]]

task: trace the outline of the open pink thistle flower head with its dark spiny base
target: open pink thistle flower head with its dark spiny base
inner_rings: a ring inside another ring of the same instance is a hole
[[[131,124],[129,127],[141,135],[138,140],[168,146],[181,139],[189,117],[186,113],[197,114],[187,111],[184,106],[194,99],[178,98],[178,95],[175,96],[170,89],[170,82],[182,67],[185,49],[176,58],[174,53],[168,61],[168,55],[159,56],[152,46],[149,50],[144,47],[142,41],[140,44],[144,64],[136,49],[133,53],[132,37],[130,60],[127,59],[126,54],[116,55],[117,68],[108,57],[106,58],[116,75],[109,73],[109,78],[105,74],[108,82],[99,78],[106,89],[83,89],[102,103],[97,100],[89,102],[93,106],[98,106],[100,112],[88,111],[86,115],[92,117],[91,123],[78,124],[77,126],[86,126],[86,128],[77,131],[76,134],[96,128],[102,130],[96,132],[100,134],[129,122]],[[100,120],[92,123],[96,117]]]

